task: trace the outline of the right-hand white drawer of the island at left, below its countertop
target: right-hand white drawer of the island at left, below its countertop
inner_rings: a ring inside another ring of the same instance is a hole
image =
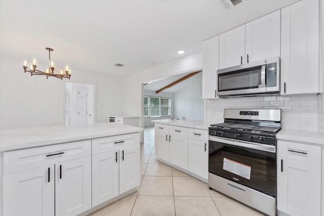
[[[140,144],[139,133],[103,137],[92,140],[92,154],[99,154],[123,147]]]

